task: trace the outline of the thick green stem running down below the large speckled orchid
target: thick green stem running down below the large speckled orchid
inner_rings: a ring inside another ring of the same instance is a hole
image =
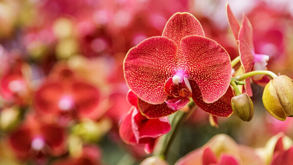
[[[191,101],[193,102],[193,101]],[[195,109],[194,103],[188,103],[188,106],[191,107],[188,112],[183,112],[181,110],[177,111],[173,118],[171,119],[171,130],[166,135],[164,135],[162,138],[162,143],[160,144],[160,150],[157,153],[154,153],[154,156],[158,156],[162,159],[166,159],[168,150],[176,136],[176,133],[178,132],[180,126],[183,124],[184,119],[188,116],[188,114]]]

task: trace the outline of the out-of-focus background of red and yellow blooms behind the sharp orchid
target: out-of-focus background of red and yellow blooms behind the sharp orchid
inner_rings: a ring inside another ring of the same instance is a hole
[[[144,146],[124,144],[118,125],[130,108],[123,75],[127,51],[160,36],[176,12],[189,12],[207,37],[238,56],[226,18],[226,0],[0,0],[0,165],[139,164]],[[230,0],[240,22],[253,27],[255,52],[268,69],[293,78],[293,1]],[[195,110],[178,132],[173,164],[213,135],[264,146],[293,120],[266,112],[263,87],[252,84],[254,117],[220,118],[219,128]],[[82,158],[82,159],[78,159]],[[71,161],[71,162],[70,162]],[[84,162],[83,162],[84,161]],[[93,163],[94,162],[94,163]]]

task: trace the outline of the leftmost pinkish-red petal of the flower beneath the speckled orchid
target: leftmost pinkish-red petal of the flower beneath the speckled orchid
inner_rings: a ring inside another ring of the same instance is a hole
[[[125,142],[126,144],[136,144],[136,140],[132,131],[132,123],[131,123],[131,116],[132,112],[135,109],[134,106],[132,106],[127,115],[122,119],[120,125],[119,125],[119,135],[120,138]]]

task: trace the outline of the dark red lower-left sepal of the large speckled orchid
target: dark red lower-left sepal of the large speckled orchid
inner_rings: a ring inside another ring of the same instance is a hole
[[[138,108],[149,119],[165,117],[176,112],[169,108],[165,102],[161,104],[150,104],[141,99],[138,99]]]

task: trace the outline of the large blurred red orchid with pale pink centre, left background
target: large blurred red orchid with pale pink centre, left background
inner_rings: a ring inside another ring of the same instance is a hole
[[[56,69],[57,68],[57,69]],[[58,117],[66,124],[72,118],[98,119],[105,113],[99,90],[80,79],[63,65],[56,66],[35,93],[34,108],[39,116]],[[68,121],[69,120],[69,121]],[[56,121],[55,121],[56,122]]]

